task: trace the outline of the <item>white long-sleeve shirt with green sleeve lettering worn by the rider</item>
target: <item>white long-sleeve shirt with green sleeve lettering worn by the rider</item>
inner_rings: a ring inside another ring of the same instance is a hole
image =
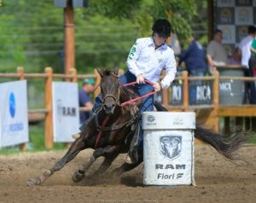
[[[138,38],[131,47],[126,63],[132,74],[137,77],[143,73],[143,77],[151,82],[157,82],[161,71],[166,68],[166,76],[161,80],[165,89],[170,86],[177,72],[172,49],[166,44],[155,49],[153,38]]]

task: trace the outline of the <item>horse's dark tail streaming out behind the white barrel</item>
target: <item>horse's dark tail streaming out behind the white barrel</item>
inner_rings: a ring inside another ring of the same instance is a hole
[[[160,102],[154,102],[154,107],[161,112],[167,111],[166,107],[163,107]],[[234,160],[238,158],[236,154],[237,149],[241,148],[250,136],[247,136],[247,133],[238,131],[230,136],[222,136],[202,125],[196,125],[195,138],[210,144],[219,154],[224,155],[225,158]]]

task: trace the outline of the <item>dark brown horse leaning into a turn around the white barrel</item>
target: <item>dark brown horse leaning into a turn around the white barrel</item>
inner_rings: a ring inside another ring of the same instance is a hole
[[[86,171],[99,157],[104,157],[95,175],[100,175],[108,170],[119,154],[129,151],[132,137],[137,131],[138,119],[140,119],[139,107],[141,100],[128,102],[137,98],[137,94],[130,88],[124,87],[118,78],[118,69],[97,69],[101,76],[102,105],[98,107],[87,120],[86,125],[79,133],[79,137],[73,142],[67,153],[58,160],[49,170],[38,177],[30,178],[28,186],[40,185],[51,177],[55,171],[61,170],[67,162],[75,158],[81,150],[94,148],[87,163],[80,165],[73,171],[73,182],[79,182],[85,177]],[[128,103],[122,105],[122,103]],[[157,111],[167,111],[159,102],[154,102]],[[248,137],[245,134],[235,133],[232,136],[221,136],[202,125],[196,125],[195,137],[210,144],[219,154],[229,160],[236,159],[236,151],[241,148]],[[135,163],[124,163],[113,170],[113,176],[120,176],[125,171],[131,171],[143,162],[143,148],[138,148],[137,161]]]

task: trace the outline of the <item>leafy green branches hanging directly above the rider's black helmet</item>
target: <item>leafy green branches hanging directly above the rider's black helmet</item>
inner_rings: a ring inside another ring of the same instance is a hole
[[[148,35],[154,20],[166,18],[171,21],[173,32],[183,40],[191,34],[191,20],[195,14],[195,0],[144,0],[136,20],[142,35]]]

